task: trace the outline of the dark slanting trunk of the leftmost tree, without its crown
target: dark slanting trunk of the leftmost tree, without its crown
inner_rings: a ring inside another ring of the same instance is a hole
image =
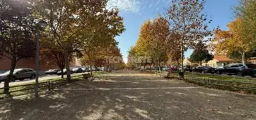
[[[13,74],[14,74],[15,67],[16,67],[16,57],[12,57],[9,76],[7,77],[7,79],[4,80],[4,94],[9,95],[9,81],[12,81],[14,79]]]

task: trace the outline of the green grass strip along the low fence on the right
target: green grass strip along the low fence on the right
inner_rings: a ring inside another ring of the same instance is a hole
[[[225,89],[230,91],[245,91],[245,93],[256,93],[256,79],[240,76],[225,76],[216,74],[185,73],[186,81],[199,86],[214,89]],[[171,76],[179,77],[178,72],[172,72]]]

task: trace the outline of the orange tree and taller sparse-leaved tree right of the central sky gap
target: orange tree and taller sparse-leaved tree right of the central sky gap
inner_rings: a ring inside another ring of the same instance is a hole
[[[205,1],[171,2],[166,18],[159,16],[143,24],[136,46],[131,48],[129,56],[151,56],[153,64],[158,66],[160,62],[171,59],[183,66],[184,51],[207,41],[204,38],[212,34],[207,24],[212,20],[208,20],[207,14],[203,13]]]

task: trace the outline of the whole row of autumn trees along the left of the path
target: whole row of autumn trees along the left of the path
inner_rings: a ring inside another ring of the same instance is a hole
[[[84,58],[87,64],[98,65],[104,56],[121,56],[115,36],[124,30],[118,9],[106,9],[108,0],[2,0],[0,3],[0,56],[11,60],[9,81],[20,59],[34,57],[35,33],[39,29],[40,58],[67,69],[70,61]],[[35,21],[43,19],[47,28]],[[113,54],[114,53],[114,54]]]

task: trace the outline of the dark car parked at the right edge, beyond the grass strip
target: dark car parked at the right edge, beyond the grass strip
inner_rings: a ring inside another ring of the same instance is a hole
[[[255,76],[256,64],[228,64],[215,70],[216,74]]]

